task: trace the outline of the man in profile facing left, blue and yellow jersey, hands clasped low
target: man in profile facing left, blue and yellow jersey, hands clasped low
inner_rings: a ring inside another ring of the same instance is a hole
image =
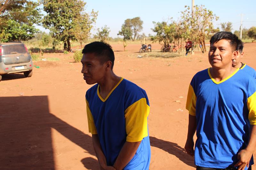
[[[82,73],[87,84],[89,132],[100,168],[148,170],[148,97],[142,88],[113,72],[114,52],[104,42],[82,50]]]

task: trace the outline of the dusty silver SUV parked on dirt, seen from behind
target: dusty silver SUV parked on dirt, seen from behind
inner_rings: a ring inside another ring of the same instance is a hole
[[[33,74],[33,62],[25,44],[20,41],[0,43],[0,81],[3,74],[23,72],[25,77]]]

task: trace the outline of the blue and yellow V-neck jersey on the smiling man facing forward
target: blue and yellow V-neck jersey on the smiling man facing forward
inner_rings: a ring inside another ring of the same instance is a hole
[[[248,144],[250,124],[256,125],[256,81],[240,69],[220,82],[210,69],[200,71],[189,85],[186,109],[197,121],[195,164],[233,166]]]

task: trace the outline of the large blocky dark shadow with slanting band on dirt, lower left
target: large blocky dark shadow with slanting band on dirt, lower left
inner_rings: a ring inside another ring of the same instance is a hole
[[[47,96],[0,97],[0,101],[0,169],[55,169],[51,128],[95,155],[92,137],[51,114]],[[99,169],[94,158],[81,162]]]

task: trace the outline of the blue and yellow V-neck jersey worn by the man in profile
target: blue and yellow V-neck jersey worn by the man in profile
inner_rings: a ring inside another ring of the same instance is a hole
[[[86,92],[85,98],[89,132],[98,134],[107,165],[114,165],[125,141],[141,141],[124,170],[148,169],[151,153],[145,90],[121,78],[105,99],[100,96],[98,84]]]

